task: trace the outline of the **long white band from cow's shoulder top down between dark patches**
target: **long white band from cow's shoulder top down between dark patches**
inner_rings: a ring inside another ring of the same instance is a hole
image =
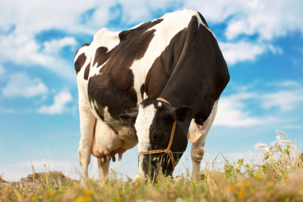
[[[183,11],[166,13],[165,15],[159,18],[163,19],[160,23],[156,24],[155,26],[149,29],[155,30],[152,41],[148,49],[146,50],[145,55],[142,58],[135,60],[130,67],[134,74],[134,89],[137,93],[138,98],[137,104],[142,101],[140,89],[142,84],[145,82],[147,73],[152,67],[152,63],[169,45],[170,40],[178,32],[188,26],[189,22],[192,19],[192,16],[194,15],[197,16],[199,25],[202,24],[206,27],[197,11],[185,9]],[[210,31],[209,28],[207,29]],[[147,96],[144,96],[144,99],[146,98]]]

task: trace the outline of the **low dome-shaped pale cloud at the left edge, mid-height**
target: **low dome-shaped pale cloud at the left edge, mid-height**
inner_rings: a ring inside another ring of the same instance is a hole
[[[9,76],[6,87],[2,88],[3,97],[25,97],[44,95],[49,89],[39,78],[30,78],[25,73],[16,73]]]

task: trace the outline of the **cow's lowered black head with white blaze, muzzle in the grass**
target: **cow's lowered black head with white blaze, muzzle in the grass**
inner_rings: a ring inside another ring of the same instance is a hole
[[[187,147],[187,132],[192,118],[193,108],[189,106],[173,107],[170,104],[146,99],[139,105],[137,117],[134,114],[124,114],[124,118],[136,118],[134,136],[138,138],[139,153],[167,149],[171,130],[176,121],[176,130],[170,150],[176,162]],[[128,116],[129,115],[129,116]],[[164,175],[171,174],[172,163],[164,152],[139,155],[138,176],[147,174],[152,178],[162,170]]]

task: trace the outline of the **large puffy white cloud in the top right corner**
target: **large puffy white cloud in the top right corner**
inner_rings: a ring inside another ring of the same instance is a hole
[[[260,39],[271,40],[293,30],[303,31],[301,0],[255,0],[255,6],[245,6],[242,15],[233,18],[227,26],[226,37],[234,39],[241,34],[258,34]]]

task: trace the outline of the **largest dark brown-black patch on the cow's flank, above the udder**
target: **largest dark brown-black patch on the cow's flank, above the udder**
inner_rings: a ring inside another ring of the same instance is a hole
[[[121,35],[119,45],[110,51],[104,47],[96,51],[94,64],[107,62],[100,69],[100,75],[89,78],[88,95],[90,101],[107,106],[111,117],[117,118],[118,114],[137,107],[134,75],[130,66],[134,60],[144,56],[152,41],[155,30],[147,30],[161,21],[155,20],[128,30],[124,36]]]

